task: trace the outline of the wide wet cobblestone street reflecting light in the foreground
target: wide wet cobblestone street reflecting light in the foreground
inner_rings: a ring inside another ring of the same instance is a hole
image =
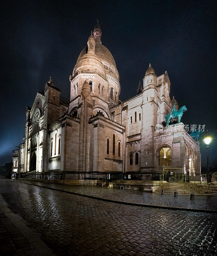
[[[0,180],[0,193],[58,256],[213,256],[217,250],[217,214],[115,204],[12,180]]]

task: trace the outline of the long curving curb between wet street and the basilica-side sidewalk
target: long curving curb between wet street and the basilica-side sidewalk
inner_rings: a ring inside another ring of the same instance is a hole
[[[67,191],[67,190],[63,190],[63,189],[58,189],[58,188],[49,188],[49,187],[42,186],[42,185],[30,184],[30,183],[26,183],[26,182],[23,182],[23,181],[18,181],[18,182],[24,183],[24,184],[27,184],[27,185],[40,187],[40,188],[47,188],[47,189],[51,189],[51,190],[55,190],[55,191],[59,191],[59,192],[67,193],[67,194],[72,194],[72,195],[77,195],[77,196],[84,196],[84,197],[88,197],[88,198],[92,198],[92,199],[96,199],[96,200],[101,200],[101,201],[105,201],[105,202],[110,202],[110,203],[116,203],[116,204],[125,204],[125,205],[133,205],[133,206],[140,206],[140,207],[150,207],[150,208],[158,208],[158,209],[165,209],[165,210],[176,210],[176,211],[187,211],[187,212],[217,213],[217,210],[192,209],[192,208],[185,208],[185,207],[173,207],[173,206],[153,205],[153,204],[139,204],[139,203],[132,203],[132,202],[128,202],[128,201],[112,200],[112,199],[108,199],[108,198],[104,198],[104,197],[91,196],[91,195],[86,195],[86,194],[82,194],[82,193],[76,193],[76,192],[71,192],[71,191]]]

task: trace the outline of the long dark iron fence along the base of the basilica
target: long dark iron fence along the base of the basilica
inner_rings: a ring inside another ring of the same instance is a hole
[[[20,173],[21,179],[38,180],[143,180],[143,181],[167,181],[167,182],[189,182],[206,181],[206,174],[173,174],[162,172],[26,172]]]

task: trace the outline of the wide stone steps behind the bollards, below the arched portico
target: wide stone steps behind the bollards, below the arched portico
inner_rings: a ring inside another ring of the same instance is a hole
[[[155,193],[161,194],[161,190],[165,190],[165,194],[174,194],[178,192],[180,195],[201,195],[201,196],[217,196],[217,187],[213,184],[197,184],[188,182],[167,182],[159,184],[159,188]]]

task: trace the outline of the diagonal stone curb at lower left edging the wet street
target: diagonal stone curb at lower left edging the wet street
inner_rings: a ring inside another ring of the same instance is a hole
[[[26,226],[25,220],[22,220],[18,214],[13,213],[0,194],[0,209],[6,217],[19,229],[22,235],[27,239],[28,243],[35,249],[40,256],[56,256],[50,248]]]

